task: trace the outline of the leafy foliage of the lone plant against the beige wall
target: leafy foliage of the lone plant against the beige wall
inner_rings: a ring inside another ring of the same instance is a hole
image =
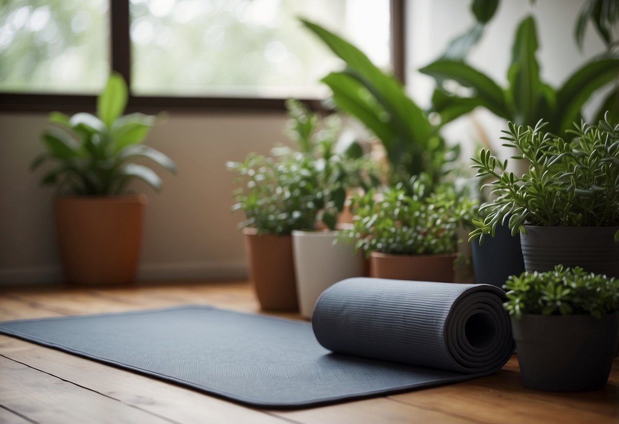
[[[127,86],[119,74],[110,75],[97,100],[97,116],[77,113],[69,117],[50,114],[50,127],[43,132],[46,152],[35,158],[35,170],[50,160],[56,164],[41,179],[41,185],[56,185],[71,195],[119,195],[132,179],[141,179],[154,190],[160,177],[147,166],[132,163],[145,158],[176,172],[176,164],[160,151],[141,145],[155,125],[156,117],[141,113],[122,116],[127,104]]]

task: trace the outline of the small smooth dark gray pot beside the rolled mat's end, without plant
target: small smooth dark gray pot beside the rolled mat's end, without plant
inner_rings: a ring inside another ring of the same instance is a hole
[[[619,344],[619,313],[511,317],[522,384],[555,392],[594,391],[608,381]]]

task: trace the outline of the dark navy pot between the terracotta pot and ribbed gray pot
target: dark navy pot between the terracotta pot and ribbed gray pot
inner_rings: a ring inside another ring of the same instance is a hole
[[[524,260],[520,237],[512,237],[507,226],[496,226],[494,237],[487,235],[483,245],[479,240],[471,244],[475,281],[503,288],[510,275],[520,275],[524,272]]]

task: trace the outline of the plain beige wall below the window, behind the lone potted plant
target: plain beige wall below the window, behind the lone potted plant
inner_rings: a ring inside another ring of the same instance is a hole
[[[174,177],[160,172],[163,190],[149,205],[139,278],[235,279],[246,276],[240,214],[231,214],[228,159],[267,153],[285,140],[284,113],[175,115],[156,127],[150,146],[173,158]],[[43,151],[43,114],[0,114],[0,284],[59,281],[51,200],[28,164]]]

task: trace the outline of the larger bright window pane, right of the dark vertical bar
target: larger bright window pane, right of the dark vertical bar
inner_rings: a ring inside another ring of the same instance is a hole
[[[301,27],[340,33],[389,69],[388,0],[131,0],[137,95],[318,98],[338,66]]]

